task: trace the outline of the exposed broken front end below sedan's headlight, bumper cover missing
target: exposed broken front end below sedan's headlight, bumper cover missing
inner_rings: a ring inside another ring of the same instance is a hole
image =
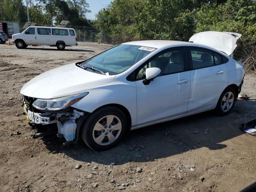
[[[82,121],[85,119],[85,112],[78,111],[69,107],[60,111],[40,111],[34,106],[36,99],[23,96],[23,108],[28,123],[49,125],[56,124],[58,127],[58,135],[63,136],[66,141],[73,141],[78,138],[79,129]]]

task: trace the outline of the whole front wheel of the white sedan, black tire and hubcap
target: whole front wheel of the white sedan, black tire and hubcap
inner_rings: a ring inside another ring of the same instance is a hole
[[[81,136],[88,147],[102,151],[116,146],[127,130],[126,116],[121,110],[116,107],[103,107],[85,120]]]

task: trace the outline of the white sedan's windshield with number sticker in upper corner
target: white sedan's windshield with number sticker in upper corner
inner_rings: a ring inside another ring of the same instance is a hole
[[[80,66],[94,67],[115,75],[130,68],[154,50],[156,49],[136,45],[118,45],[82,62]]]

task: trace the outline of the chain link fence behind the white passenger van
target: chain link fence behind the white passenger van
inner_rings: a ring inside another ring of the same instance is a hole
[[[25,23],[19,23],[20,32],[24,31],[23,26]],[[36,26],[45,26],[44,24],[36,24]],[[66,26],[66,28],[73,28],[76,30],[77,41],[80,42],[98,42],[113,44],[113,39],[101,30],[96,30],[91,26]]]

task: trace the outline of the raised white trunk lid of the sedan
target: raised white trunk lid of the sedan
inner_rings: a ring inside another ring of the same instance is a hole
[[[206,31],[194,34],[189,42],[210,46],[231,55],[236,48],[236,41],[241,36],[239,33]]]

